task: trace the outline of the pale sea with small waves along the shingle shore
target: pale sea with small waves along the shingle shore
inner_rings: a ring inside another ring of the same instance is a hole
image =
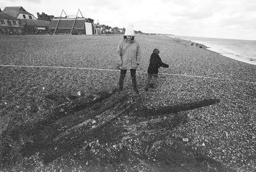
[[[208,50],[215,51],[223,56],[236,59],[245,63],[256,65],[256,40],[207,38],[194,36],[169,35],[170,37],[190,40],[204,44]]]

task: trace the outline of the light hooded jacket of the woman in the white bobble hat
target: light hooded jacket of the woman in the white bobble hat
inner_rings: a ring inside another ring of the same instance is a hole
[[[127,49],[125,50],[125,48]],[[137,69],[137,66],[140,65],[140,57],[141,49],[138,41],[124,39],[119,42],[117,47],[117,63],[120,65],[120,69]]]

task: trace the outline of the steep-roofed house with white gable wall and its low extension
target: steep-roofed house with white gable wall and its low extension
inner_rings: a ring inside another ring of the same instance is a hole
[[[40,34],[48,33],[50,21],[37,20],[36,17],[27,12],[22,6],[5,7],[3,12],[12,17],[20,19],[23,25],[23,33],[26,34]]]

